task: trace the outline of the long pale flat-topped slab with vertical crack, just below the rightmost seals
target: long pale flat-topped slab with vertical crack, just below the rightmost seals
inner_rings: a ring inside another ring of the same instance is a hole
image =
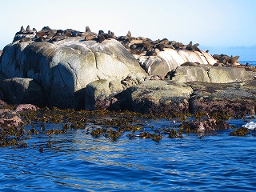
[[[254,79],[255,72],[225,66],[179,66],[170,77],[176,82],[242,82]]]

